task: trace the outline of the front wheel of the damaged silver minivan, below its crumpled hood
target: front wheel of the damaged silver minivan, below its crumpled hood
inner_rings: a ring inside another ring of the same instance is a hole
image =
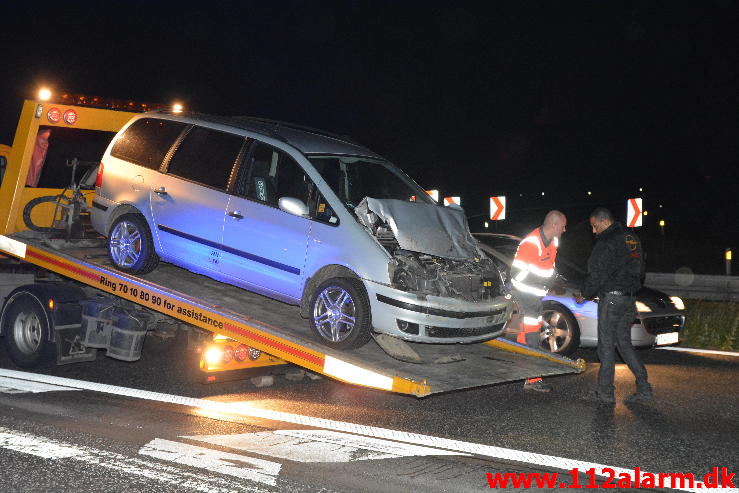
[[[313,292],[310,306],[311,327],[323,344],[354,349],[372,337],[369,298],[361,281],[329,279]]]

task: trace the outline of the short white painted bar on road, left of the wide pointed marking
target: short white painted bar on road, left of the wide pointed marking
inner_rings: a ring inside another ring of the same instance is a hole
[[[282,464],[155,438],[139,454],[275,486]]]

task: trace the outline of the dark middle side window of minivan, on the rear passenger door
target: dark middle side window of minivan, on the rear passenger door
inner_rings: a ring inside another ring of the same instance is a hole
[[[167,173],[226,190],[243,144],[242,136],[193,127],[177,146]]]

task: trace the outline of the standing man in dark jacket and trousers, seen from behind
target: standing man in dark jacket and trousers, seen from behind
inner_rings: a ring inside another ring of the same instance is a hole
[[[642,249],[639,238],[624,231],[613,220],[608,209],[599,207],[590,215],[590,225],[596,235],[588,259],[588,275],[582,295],[577,299],[598,297],[598,390],[596,397],[615,403],[613,385],[616,347],[621,358],[636,377],[636,393],[626,402],[649,402],[652,387],[647,370],[631,344],[631,326],[636,318],[634,295],[641,288]]]

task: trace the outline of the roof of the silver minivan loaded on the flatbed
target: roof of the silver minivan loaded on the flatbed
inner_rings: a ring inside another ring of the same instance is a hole
[[[250,116],[219,116],[204,113],[173,114],[166,111],[154,111],[146,115],[190,124],[205,124],[205,126],[221,130],[244,130],[258,133],[290,144],[303,154],[345,154],[383,159],[382,156],[358,144],[350,137],[295,123]]]

